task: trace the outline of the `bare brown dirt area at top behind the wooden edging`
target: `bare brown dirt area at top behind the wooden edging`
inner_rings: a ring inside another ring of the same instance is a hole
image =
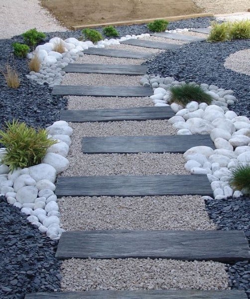
[[[41,5],[68,28],[204,11],[192,0],[41,0]]]

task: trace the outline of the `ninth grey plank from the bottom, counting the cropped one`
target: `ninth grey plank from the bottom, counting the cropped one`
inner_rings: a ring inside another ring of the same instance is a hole
[[[139,47],[145,47],[145,48],[154,48],[154,49],[162,49],[162,50],[172,50],[180,48],[181,45],[178,44],[170,44],[167,42],[160,42],[160,41],[151,41],[151,40],[145,40],[145,39],[127,39],[124,41],[120,41],[121,44],[127,44],[127,45],[134,45]]]

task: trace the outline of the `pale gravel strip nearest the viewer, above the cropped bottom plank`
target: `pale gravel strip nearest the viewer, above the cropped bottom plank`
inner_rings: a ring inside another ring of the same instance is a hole
[[[62,291],[225,290],[224,264],[165,259],[70,259],[62,263]]]

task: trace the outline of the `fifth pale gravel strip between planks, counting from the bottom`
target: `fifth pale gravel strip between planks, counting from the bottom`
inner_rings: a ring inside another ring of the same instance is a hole
[[[154,106],[153,101],[148,98],[130,97],[77,97],[70,96],[68,99],[69,110],[85,109],[122,109],[133,107]]]

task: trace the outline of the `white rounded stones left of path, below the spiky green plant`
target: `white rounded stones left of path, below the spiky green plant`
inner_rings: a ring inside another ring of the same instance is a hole
[[[9,172],[7,165],[0,164],[0,195],[9,204],[21,209],[27,220],[36,225],[51,239],[58,239],[64,231],[60,228],[57,196],[54,194],[56,175],[69,166],[66,158],[71,144],[72,128],[67,122],[58,121],[47,128],[48,137],[58,143],[51,146],[42,163]],[[5,149],[0,149],[0,159]]]

